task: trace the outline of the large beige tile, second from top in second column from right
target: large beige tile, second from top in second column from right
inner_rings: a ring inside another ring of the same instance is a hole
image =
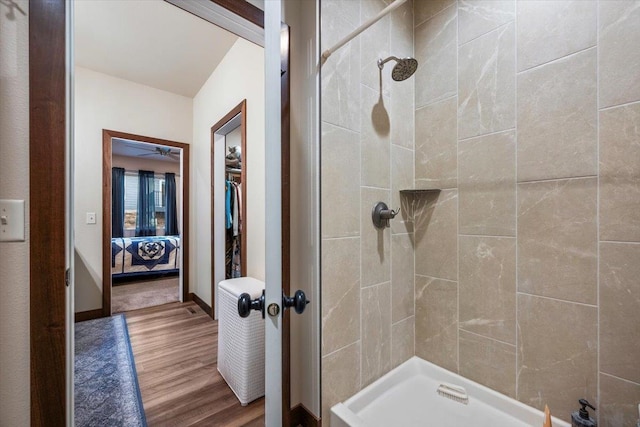
[[[596,49],[519,74],[517,98],[518,181],[597,173]]]

